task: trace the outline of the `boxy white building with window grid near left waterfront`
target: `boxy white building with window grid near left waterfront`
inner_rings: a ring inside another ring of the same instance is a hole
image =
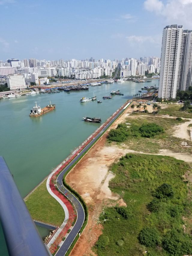
[[[23,75],[9,75],[7,76],[7,86],[10,88],[10,90],[15,90],[15,91],[21,91],[21,90],[26,90],[26,83],[25,83],[25,78]]]

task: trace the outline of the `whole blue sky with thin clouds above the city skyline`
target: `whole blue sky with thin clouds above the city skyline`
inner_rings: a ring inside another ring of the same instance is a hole
[[[0,0],[0,60],[161,56],[164,26],[192,29],[192,0]]]

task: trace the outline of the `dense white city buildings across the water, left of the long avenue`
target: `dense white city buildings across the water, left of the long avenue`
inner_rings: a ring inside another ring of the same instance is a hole
[[[93,79],[102,76],[112,76],[118,65],[118,59],[100,59],[95,61],[66,60],[46,61],[37,59],[7,59],[0,61],[0,77],[7,80],[7,85],[12,90],[23,90],[31,84],[44,85],[49,83],[50,77],[63,77],[75,79]]]

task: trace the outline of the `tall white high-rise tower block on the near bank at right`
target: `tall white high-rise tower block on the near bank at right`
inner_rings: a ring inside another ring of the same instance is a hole
[[[163,30],[159,98],[176,98],[192,82],[192,30],[166,26]]]

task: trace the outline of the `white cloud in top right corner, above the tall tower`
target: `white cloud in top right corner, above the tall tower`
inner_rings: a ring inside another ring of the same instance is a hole
[[[192,0],[146,0],[144,8],[155,12],[167,22],[167,25],[184,25],[184,29],[192,29]]]

